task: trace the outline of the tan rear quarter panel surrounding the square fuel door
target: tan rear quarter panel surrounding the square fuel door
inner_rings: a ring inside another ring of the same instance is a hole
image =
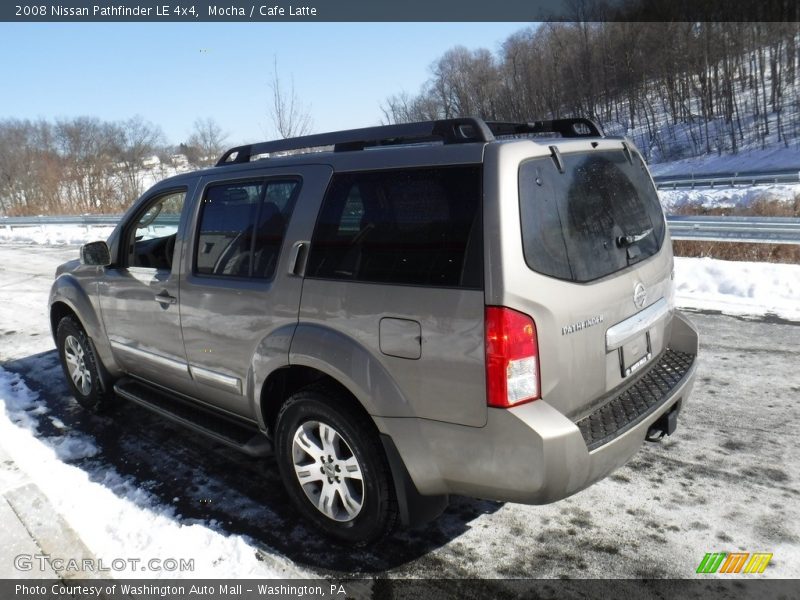
[[[384,319],[418,325],[419,359],[381,351]],[[481,291],[309,278],[303,287],[300,321],[303,335],[313,328],[326,343],[301,345],[298,331],[292,363],[313,358],[347,373],[372,396],[366,405],[370,414],[415,415],[476,427],[486,422]],[[336,342],[330,343],[331,339]],[[376,372],[391,380],[387,387],[397,389],[401,399],[375,390]],[[375,391],[369,393],[370,389]]]

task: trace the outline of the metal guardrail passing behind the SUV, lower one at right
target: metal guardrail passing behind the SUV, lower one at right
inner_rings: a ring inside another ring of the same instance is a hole
[[[76,217],[0,217],[0,228],[44,225],[114,226],[121,215]],[[155,226],[177,226],[178,216],[159,217]],[[668,216],[673,240],[800,244],[800,218]]]

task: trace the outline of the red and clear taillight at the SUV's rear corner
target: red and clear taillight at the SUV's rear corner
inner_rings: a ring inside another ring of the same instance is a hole
[[[539,344],[528,315],[486,307],[486,401],[508,408],[540,398]]]

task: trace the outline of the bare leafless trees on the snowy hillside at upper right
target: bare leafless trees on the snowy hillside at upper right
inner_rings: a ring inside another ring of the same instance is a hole
[[[605,21],[587,18],[590,4],[494,55],[451,48],[418,94],[384,100],[384,120],[596,117],[658,160],[800,136],[798,23]]]

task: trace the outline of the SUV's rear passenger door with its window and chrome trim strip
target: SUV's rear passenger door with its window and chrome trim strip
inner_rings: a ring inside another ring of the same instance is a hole
[[[181,324],[195,395],[255,418],[256,379],[288,363],[302,278],[291,240],[308,240],[331,169],[299,166],[202,180],[181,281]]]

